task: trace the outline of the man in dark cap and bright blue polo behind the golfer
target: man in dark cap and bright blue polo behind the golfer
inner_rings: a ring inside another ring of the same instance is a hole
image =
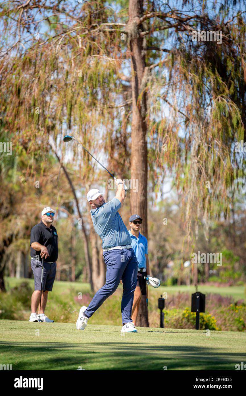
[[[132,320],[134,323],[137,322],[137,315],[139,312],[139,306],[141,303],[141,296],[146,296],[146,280],[145,276],[150,274],[150,266],[148,261],[148,241],[145,236],[140,234],[139,230],[142,224],[141,217],[139,215],[131,215],[129,219],[131,236],[131,246],[135,251],[137,261],[139,262],[137,270],[137,286],[134,292],[133,307],[131,311]]]

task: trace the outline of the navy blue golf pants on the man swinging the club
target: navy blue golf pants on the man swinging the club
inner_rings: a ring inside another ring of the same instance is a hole
[[[132,322],[131,309],[134,291],[137,285],[138,261],[132,247],[130,249],[113,249],[103,252],[106,270],[106,283],[94,295],[84,315],[90,318],[102,303],[115,292],[120,280],[123,283],[121,300],[122,323]]]

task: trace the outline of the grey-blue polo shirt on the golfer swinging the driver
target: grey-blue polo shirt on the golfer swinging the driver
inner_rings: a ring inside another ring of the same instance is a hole
[[[90,210],[94,229],[103,241],[103,249],[131,245],[128,229],[118,213],[120,207],[120,200],[113,198],[111,201],[105,202],[100,208]]]

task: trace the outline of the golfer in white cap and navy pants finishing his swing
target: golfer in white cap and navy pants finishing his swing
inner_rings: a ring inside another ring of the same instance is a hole
[[[86,196],[91,206],[91,218],[96,233],[102,239],[103,259],[107,267],[106,283],[94,295],[88,307],[81,307],[76,323],[78,330],[85,330],[88,319],[102,303],[117,289],[120,280],[123,283],[121,300],[123,332],[136,332],[131,320],[134,290],[137,285],[138,261],[131,247],[131,237],[118,210],[121,208],[126,193],[123,181],[116,180],[115,198],[105,203],[103,194],[96,188]]]

